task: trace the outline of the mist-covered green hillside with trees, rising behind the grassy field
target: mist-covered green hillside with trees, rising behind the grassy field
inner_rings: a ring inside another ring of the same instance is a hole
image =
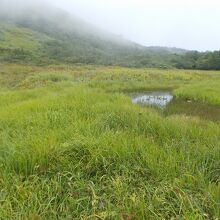
[[[0,62],[220,69],[220,53],[144,47],[100,30],[61,9],[29,6],[12,11],[3,5]]]

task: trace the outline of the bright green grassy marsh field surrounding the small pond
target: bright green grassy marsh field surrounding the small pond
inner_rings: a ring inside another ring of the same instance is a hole
[[[126,95],[218,114],[219,88],[215,71],[0,65],[0,219],[220,219],[218,117]]]

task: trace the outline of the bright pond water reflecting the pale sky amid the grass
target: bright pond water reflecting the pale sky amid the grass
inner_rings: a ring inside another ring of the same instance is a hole
[[[152,105],[164,108],[173,99],[170,92],[156,91],[145,92],[132,95],[132,102],[140,105]]]

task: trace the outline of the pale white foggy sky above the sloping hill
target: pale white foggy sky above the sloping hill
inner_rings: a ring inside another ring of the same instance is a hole
[[[45,5],[145,46],[220,49],[218,0],[0,0],[0,13]]]

